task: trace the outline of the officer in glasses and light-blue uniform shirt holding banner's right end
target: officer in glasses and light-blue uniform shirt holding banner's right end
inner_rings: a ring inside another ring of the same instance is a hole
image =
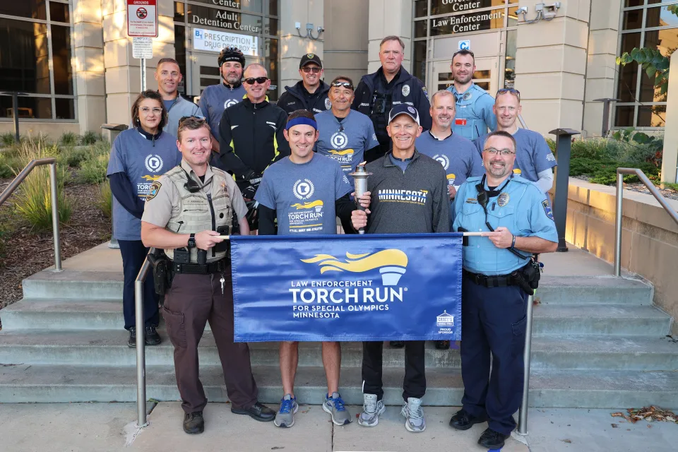
[[[539,279],[533,254],[556,251],[558,234],[549,200],[533,182],[513,174],[516,141],[490,133],[482,150],[485,174],[459,187],[453,230],[463,249],[461,374],[463,408],[451,427],[488,423],[478,444],[504,446],[523,398],[523,347],[528,293]],[[492,374],[490,374],[492,355]]]

